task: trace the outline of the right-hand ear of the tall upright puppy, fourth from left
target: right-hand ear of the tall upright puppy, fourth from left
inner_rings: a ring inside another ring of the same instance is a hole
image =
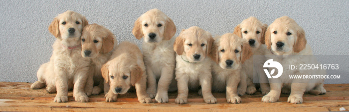
[[[165,24],[165,32],[164,32],[164,39],[170,40],[177,29],[175,28],[174,21],[168,17],[168,20]]]

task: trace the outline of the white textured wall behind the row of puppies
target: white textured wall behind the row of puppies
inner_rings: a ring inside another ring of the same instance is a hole
[[[304,28],[315,55],[349,55],[349,0],[1,0],[0,4],[0,81],[37,80],[36,71],[49,61],[55,40],[48,25],[68,9],[110,29],[119,41],[139,46],[141,41],[131,33],[133,23],[152,8],[174,20],[175,36],[190,26],[222,35],[249,16],[270,24],[287,15]]]

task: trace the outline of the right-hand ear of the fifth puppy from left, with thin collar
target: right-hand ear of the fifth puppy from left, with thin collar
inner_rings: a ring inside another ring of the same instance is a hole
[[[209,57],[211,57],[211,59],[216,63],[218,63],[218,56],[217,56],[218,52],[217,51],[218,51],[217,46],[214,42],[214,39],[211,36],[207,42],[207,55]]]

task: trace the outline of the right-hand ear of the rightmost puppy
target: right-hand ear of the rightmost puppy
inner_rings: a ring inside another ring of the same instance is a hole
[[[301,52],[307,45],[307,39],[305,38],[305,32],[303,28],[298,28],[297,30],[297,39],[293,45],[293,51],[296,53]]]

